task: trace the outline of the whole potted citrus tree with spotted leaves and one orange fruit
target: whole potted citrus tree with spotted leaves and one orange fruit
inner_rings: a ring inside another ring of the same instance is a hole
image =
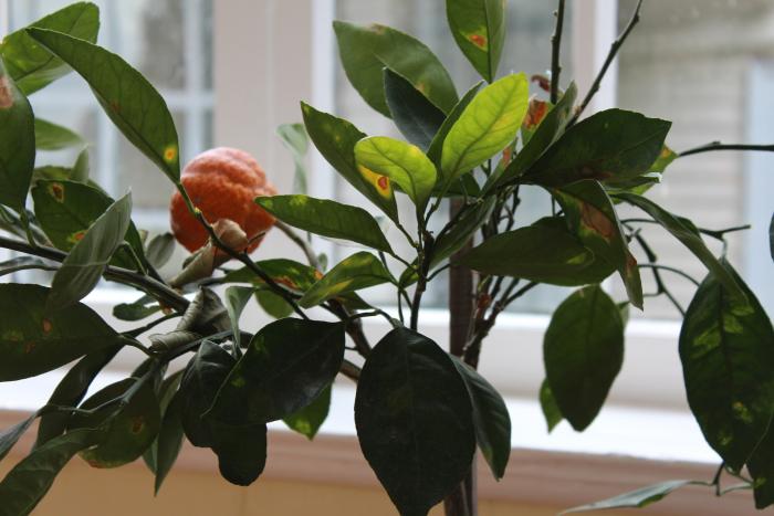
[[[703,229],[646,196],[680,156],[771,148],[711,144],[678,155],[665,145],[667,120],[621,109],[582,117],[639,9],[592,89],[578,96],[574,83],[561,81],[559,1],[551,76],[535,77],[545,99],[530,97],[523,73],[498,74],[504,0],[446,2],[449,30],[482,77],[461,94],[415,38],[336,22],[352,85],[404,139],[368,136],[305,103],[303,125],[283,126],[280,135],[299,171],[308,137],[372,211],[305,192],[275,194],[255,161],[234,149],[208,151],[181,173],[164,98],[95,44],[92,3],[8,35],[0,45],[0,246],[17,257],[0,264],[0,275],[53,274],[45,284],[0,284],[0,381],[69,369],[44,407],[0,433],[2,459],[39,420],[34,447],[0,482],[0,515],[29,514],[76,454],[100,467],[142,456],[159,489],[185,439],[211,449],[228,482],[249,485],[265,464],[266,423],[283,420],[312,439],[339,373],[357,382],[360,447],[400,514],[425,515],[441,501],[449,515],[474,514],[477,446],[496,478],[511,451],[505,403],[477,372],[479,356],[498,315],[545,284],[576,287],[545,333],[540,401],[550,428],[561,420],[577,431],[592,424],[621,367],[629,306],[667,296],[683,317],[676,345],[688,401],[720,456],[713,480],[665,482],[588,507],[642,506],[691,483],[722,494],[723,473],[752,489],[759,508],[772,504],[774,331],[754,293],[704,242],[724,242],[738,228]],[[113,199],[90,179],[86,155],[72,166],[35,167],[39,150],[82,145],[70,129],[35,118],[28,102],[71,71],[175,187],[172,229],[192,254],[174,277],[157,270],[175,239],[148,239],[132,221],[130,194]],[[553,210],[521,225],[526,185],[547,191]],[[398,196],[412,209],[398,210]],[[624,204],[645,221],[620,220]],[[641,223],[662,227],[705,266],[687,308],[667,277],[687,274],[658,262]],[[384,224],[401,242],[390,241]],[[250,257],[274,225],[307,263]],[[328,267],[304,233],[364,250]],[[447,268],[452,331],[444,348],[422,335],[420,310],[428,285]],[[644,292],[641,274],[652,275],[655,292]],[[600,286],[610,276],[620,277],[626,298]],[[138,322],[135,329],[118,331],[82,303],[103,278],[138,292],[136,302],[114,308],[116,318]],[[394,315],[358,295],[375,285],[395,292]],[[240,318],[253,298],[276,320],[251,335]],[[384,317],[391,329],[369,343],[366,317]],[[175,330],[154,333],[169,319],[177,319]],[[86,398],[125,347],[143,356],[140,366]],[[169,367],[179,357],[187,366]]]

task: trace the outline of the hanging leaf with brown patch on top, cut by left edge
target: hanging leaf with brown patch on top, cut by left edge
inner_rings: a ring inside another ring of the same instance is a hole
[[[21,212],[35,167],[34,115],[0,59],[0,203]]]

